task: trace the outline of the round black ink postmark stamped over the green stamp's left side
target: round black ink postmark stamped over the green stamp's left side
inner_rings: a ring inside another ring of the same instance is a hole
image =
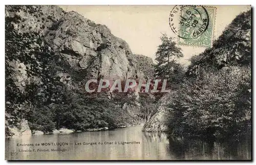
[[[203,6],[176,5],[169,14],[170,29],[183,39],[197,39],[208,25],[209,15]]]

